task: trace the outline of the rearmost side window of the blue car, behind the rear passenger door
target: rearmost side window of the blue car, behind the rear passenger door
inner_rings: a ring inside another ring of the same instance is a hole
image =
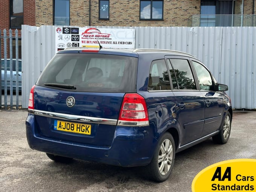
[[[148,90],[170,90],[170,79],[164,59],[152,61],[149,79]]]

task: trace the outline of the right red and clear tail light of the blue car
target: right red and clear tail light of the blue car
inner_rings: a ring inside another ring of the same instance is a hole
[[[149,125],[148,109],[145,99],[137,93],[126,93],[121,105],[117,125]]]

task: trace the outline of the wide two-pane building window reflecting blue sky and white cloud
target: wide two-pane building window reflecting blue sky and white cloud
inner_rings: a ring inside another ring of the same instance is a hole
[[[140,0],[140,20],[163,20],[163,0]]]

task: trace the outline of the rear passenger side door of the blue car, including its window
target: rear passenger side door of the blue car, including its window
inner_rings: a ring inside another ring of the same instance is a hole
[[[182,146],[201,136],[204,126],[204,98],[197,90],[189,58],[172,56],[167,61],[177,102],[176,114],[181,126]]]

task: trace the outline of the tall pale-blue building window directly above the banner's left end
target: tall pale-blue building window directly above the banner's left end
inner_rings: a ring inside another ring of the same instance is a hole
[[[70,25],[69,0],[54,1],[54,25]]]

